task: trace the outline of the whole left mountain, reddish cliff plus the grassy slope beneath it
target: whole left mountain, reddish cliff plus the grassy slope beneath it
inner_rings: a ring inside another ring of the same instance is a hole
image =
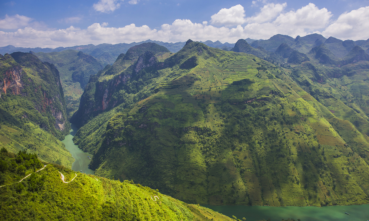
[[[59,72],[30,53],[0,58],[0,147],[28,150],[48,162],[74,159],[58,140],[69,133]]]

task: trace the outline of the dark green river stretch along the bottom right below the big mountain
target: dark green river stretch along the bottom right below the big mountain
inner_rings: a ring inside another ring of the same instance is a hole
[[[369,220],[369,204],[352,205],[352,206],[243,206],[243,205],[226,205],[211,206],[201,205],[218,211],[228,217],[232,215],[242,220],[243,217],[247,221],[268,220],[280,221],[293,218],[301,221],[366,221]],[[345,214],[345,212],[349,213]]]

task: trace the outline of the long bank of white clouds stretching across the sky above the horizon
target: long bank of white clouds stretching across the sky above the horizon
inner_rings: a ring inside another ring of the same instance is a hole
[[[123,0],[99,0],[92,8],[100,13],[113,13]],[[137,4],[131,0],[129,4]],[[255,4],[255,1],[253,1]],[[0,46],[49,47],[74,46],[100,43],[131,43],[147,39],[163,42],[221,41],[235,43],[238,39],[269,39],[276,34],[305,36],[318,33],[328,38],[333,36],[346,40],[366,40],[369,38],[369,6],[347,11],[332,20],[327,8],[318,8],[309,3],[297,10],[286,11],[287,3],[268,3],[250,17],[246,17],[244,7],[237,4],[221,8],[202,23],[189,19],[176,19],[172,24],[162,24],[160,28],[135,24],[124,27],[108,27],[107,22],[93,23],[85,29],[70,26],[65,29],[49,29],[33,18],[24,15],[6,15],[0,20]],[[81,16],[69,17],[59,22],[78,22]]]

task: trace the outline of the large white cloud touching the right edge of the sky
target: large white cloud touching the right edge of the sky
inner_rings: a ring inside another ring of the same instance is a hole
[[[328,26],[322,35],[339,39],[366,40],[369,38],[369,6],[345,12]]]

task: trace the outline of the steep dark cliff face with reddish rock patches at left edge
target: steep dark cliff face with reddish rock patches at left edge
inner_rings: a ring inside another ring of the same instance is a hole
[[[30,53],[6,54],[0,60],[0,98],[10,95],[11,100],[31,102],[32,106],[20,106],[20,110],[24,111],[23,118],[61,139],[70,126],[66,120],[66,103],[59,71],[53,64],[42,63]],[[31,110],[40,115],[29,113]]]

